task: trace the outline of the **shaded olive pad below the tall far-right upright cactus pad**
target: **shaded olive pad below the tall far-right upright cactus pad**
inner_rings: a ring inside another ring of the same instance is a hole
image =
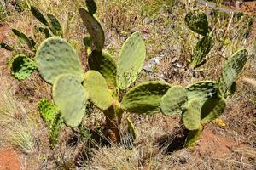
[[[208,99],[201,108],[201,123],[212,122],[220,116],[226,107],[226,99]]]

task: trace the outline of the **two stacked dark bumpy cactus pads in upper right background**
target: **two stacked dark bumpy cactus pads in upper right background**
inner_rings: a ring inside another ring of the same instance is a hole
[[[193,50],[190,65],[195,68],[206,62],[206,56],[213,44],[212,33],[209,31],[207,15],[200,11],[190,11],[185,17],[185,24],[191,31],[203,36]]]

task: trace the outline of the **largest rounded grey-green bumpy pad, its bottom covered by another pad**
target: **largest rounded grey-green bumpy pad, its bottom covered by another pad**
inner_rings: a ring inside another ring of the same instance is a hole
[[[61,74],[84,78],[84,71],[72,46],[60,37],[50,37],[40,45],[36,54],[38,71],[46,82],[54,83]]]

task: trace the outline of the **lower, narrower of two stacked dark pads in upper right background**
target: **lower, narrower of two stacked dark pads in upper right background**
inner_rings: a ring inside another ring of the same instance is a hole
[[[212,48],[212,42],[212,36],[203,37],[199,42],[197,42],[194,49],[193,59],[191,62],[191,65],[194,68],[204,61],[207,54],[210,52]]]

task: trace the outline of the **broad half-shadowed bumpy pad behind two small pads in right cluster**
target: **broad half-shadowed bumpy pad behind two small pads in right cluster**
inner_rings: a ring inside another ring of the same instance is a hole
[[[194,84],[189,85],[186,88],[188,98],[200,99],[201,106],[209,98],[215,98],[218,93],[218,82],[204,81],[204,82],[195,82]]]

